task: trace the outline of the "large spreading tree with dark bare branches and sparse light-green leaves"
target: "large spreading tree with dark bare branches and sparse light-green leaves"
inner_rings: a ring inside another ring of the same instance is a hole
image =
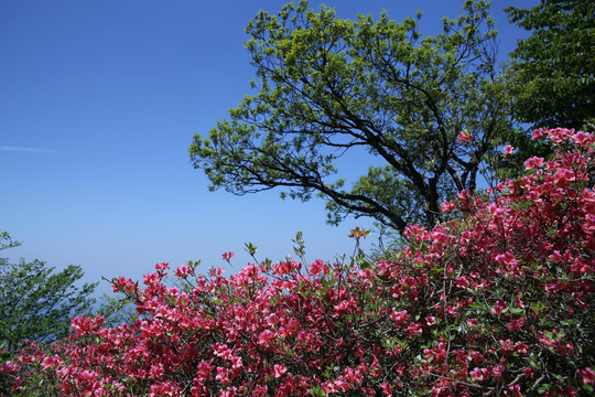
[[[340,20],[306,1],[260,12],[246,43],[258,93],[208,138],[194,136],[194,167],[210,190],[317,194],[332,224],[368,216],[402,233],[410,223],[437,223],[441,202],[476,189],[484,155],[510,129],[488,10],[488,1],[465,1],[465,14],[423,40],[421,12],[401,23],[386,13]],[[379,164],[350,190],[335,179],[347,154]]]

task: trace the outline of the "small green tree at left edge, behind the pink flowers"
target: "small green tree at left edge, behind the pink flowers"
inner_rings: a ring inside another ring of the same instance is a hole
[[[36,259],[10,264],[0,258],[0,350],[12,352],[24,340],[51,342],[68,335],[71,316],[89,312],[95,303],[90,294],[97,283],[75,286],[83,275],[79,266],[55,272]]]

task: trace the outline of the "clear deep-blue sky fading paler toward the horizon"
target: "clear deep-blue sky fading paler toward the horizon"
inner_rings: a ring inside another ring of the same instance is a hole
[[[340,18],[396,20],[424,11],[422,33],[461,13],[462,0],[327,0]],[[495,0],[500,57],[527,34]],[[203,270],[283,259],[304,233],[309,260],[353,250],[356,225],[325,224],[324,202],[208,192],[188,162],[195,132],[207,133],[249,93],[253,69],[244,29],[273,0],[0,0],[0,229],[23,246],[1,254],[80,265],[86,281],[139,279],[158,261],[202,259]],[[365,165],[365,164],[364,164]],[[375,238],[370,238],[374,240]],[[229,269],[231,271],[231,269]],[[107,290],[104,283],[101,290]]]

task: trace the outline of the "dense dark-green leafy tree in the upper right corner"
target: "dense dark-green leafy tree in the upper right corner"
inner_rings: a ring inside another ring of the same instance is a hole
[[[510,22],[531,31],[510,54],[516,117],[534,128],[594,122],[595,3],[542,0],[506,11]]]

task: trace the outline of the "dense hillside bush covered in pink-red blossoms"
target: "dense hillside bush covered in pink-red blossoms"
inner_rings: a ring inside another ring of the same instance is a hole
[[[392,260],[257,261],[228,278],[191,264],[178,288],[160,264],[142,288],[113,281],[138,321],[75,318],[69,339],[2,371],[14,393],[66,396],[591,395],[595,138],[543,138],[554,158],[443,203],[453,221],[408,227]]]

